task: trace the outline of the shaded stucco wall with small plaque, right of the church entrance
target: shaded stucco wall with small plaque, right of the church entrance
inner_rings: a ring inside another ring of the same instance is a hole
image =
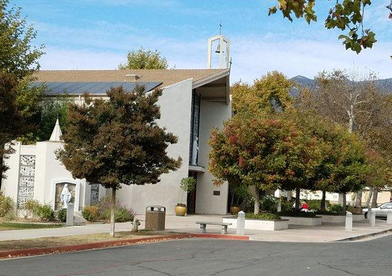
[[[228,185],[213,185],[213,175],[208,172],[208,139],[211,128],[222,128],[223,122],[231,118],[231,103],[225,101],[204,101],[200,105],[199,164],[206,167],[206,172],[197,173],[196,213],[226,214]],[[213,191],[220,195],[213,195]]]

